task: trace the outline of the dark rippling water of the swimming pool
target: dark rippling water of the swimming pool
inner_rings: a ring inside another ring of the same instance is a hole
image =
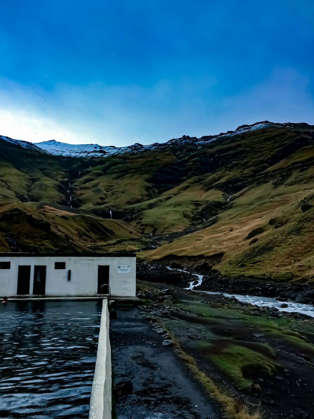
[[[0,305],[0,417],[88,418],[101,306]]]

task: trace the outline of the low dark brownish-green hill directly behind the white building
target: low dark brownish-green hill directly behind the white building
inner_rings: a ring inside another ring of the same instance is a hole
[[[136,238],[139,233],[122,220],[56,210],[29,203],[0,207],[0,250],[26,252],[99,251],[101,241]],[[17,239],[18,238],[18,239]]]

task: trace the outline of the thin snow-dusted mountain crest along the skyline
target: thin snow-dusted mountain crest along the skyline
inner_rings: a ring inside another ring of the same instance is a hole
[[[245,134],[246,132],[252,132],[262,129],[275,129],[275,128],[287,128],[293,129],[294,127],[304,126],[304,129],[310,127],[308,124],[294,124],[294,123],[274,123],[269,121],[256,122],[251,125],[241,125],[235,131],[228,131],[226,133],[221,132],[218,135],[204,135],[201,138],[189,137],[188,135],[183,135],[180,138],[173,138],[164,143],[157,143],[150,145],[142,145],[135,143],[126,147],[115,147],[113,145],[98,145],[98,144],[67,144],[65,142],[59,142],[55,140],[43,141],[43,142],[28,142],[23,140],[13,140],[10,137],[0,136],[3,140],[12,142],[13,144],[20,145],[25,148],[33,148],[41,153],[49,153],[53,155],[60,155],[65,157],[105,157],[106,155],[112,154],[125,154],[125,153],[139,153],[144,150],[156,150],[158,148],[164,148],[172,146],[174,144],[184,145],[187,143],[198,144],[200,147],[208,142],[230,138],[239,134]]]

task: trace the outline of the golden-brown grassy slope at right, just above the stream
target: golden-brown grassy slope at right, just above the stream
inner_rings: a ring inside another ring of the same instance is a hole
[[[155,251],[145,252],[149,259],[170,254],[179,256],[211,256],[224,253],[216,266],[223,274],[272,276],[280,280],[283,272],[296,278],[311,277],[314,272],[313,209],[302,212],[301,201],[314,189],[300,185],[299,191],[274,191],[271,185],[257,186],[234,201],[230,209],[219,215],[211,227],[178,238]],[[306,189],[305,189],[306,188]],[[277,193],[276,193],[277,192]],[[275,224],[269,221],[275,219]],[[264,232],[251,243],[247,235],[256,228]]]

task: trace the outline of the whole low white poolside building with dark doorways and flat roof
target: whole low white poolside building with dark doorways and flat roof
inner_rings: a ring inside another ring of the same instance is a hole
[[[0,296],[134,297],[134,254],[0,253]]]

